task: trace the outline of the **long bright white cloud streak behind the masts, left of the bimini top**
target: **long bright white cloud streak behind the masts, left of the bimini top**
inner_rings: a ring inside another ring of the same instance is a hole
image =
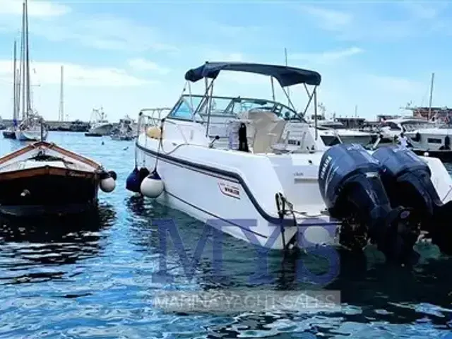
[[[61,65],[64,66],[65,85],[124,87],[155,83],[155,81],[131,76],[123,69],[57,62],[35,62],[30,65],[31,83],[35,85],[59,84]],[[0,60],[0,79],[3,82],[12,83],[13,72],[10,60]]]

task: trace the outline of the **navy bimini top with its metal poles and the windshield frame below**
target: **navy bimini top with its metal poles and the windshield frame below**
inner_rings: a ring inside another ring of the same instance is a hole
[[[273,100],[261,99],[261,98],[249,98],[249,97],[229,97],[229,96],[217,96],[213,95],[213,85],[215,80],[218,77],[220,71],[239,71],[244,73],[256,73],[270,77],[270,85],[272,90]],[[203,95],[193,95],[191,93],[191,82],[196,82],[204,78],[206,84],[206,90]],[[274,81],[276,79],[280,84],[280,87],[287,98],[288,105],[284,105],[281,102],[275,100],[275,88]],[[210,117],[215,116],[213,114],[213,100],[230,100],[229,105],[225,107],[223,110],[223,114],[221,116],[228,116],[224,114],[225,112],[231,112],[230,117],[238,117],[238,114],[233,114],[234,105],[236,103],[240,103],[242,101],[249,102],[266,102],[267,104],[273,104],[272,109],[268,110],[268,112],[274,112],[278,117],[278,111],[282,112],[283,109],[286,109],[287,112],[290,112],[290,117],[283,117],[285,120],[297,120],[304,123],[307,123],[307,120],[304,119],[307,110],[311,106],[311,102],[314,100],[314,116],[317,116],[317,87],[319,87],[321,83],[321,76],[319,73],[315,71],[307,71],[304,69],[296,69],[294,67],[288,66],[279,66],[279,65],[266,65],[266,64],[244,64],[244,63],[206,63],[203,66],[198,67],[197,69],[190,69],[185,74],[186,84],[184,86],[184,90],[182,91],[182,95],[177,100],[174,107],[172,107],[169,114],[167,114],[167,118],[183,120],[183,121],[194,121],[201,124],[206,123],[206,137],[209,136],[209,126],[210,126]],[[297,109],[293,105],[290,100],[290,95],[286,88],[302,83],[307,93],[308,102],[303,112],[297,112]],[[309,91],[308,85],[314,87],[311,92]],[[189,94],[184,94],[186,88],[189,89]],[[194,98],[200,98],[201,101],[198,102],[198,105],[193,103]],[[178,117],[177,110],[181,107],[182,104],[185,104],[189,108],[189,116],[188,117]],[[266,109],[267,110],[267,109]],[[201,113],[203,112],[203,113]],[[207,121],[204,119],[207,117]],[[314,120],[314,125],[317,127],[317,119]],[[315,139],[317,140],[318,133],[315,128]]]

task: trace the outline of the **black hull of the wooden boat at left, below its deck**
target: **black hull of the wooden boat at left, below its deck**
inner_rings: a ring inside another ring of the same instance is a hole
[[[0,174],[0,213],[68,215],[97,206],[98,178],[89,172],[40,167]]]

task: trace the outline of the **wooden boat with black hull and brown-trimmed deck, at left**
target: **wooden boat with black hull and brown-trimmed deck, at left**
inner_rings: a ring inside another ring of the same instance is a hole
[[[0,213],[68,215],[97,207],[97,191],[116,186],[116,173],[54,143],[38,141],[0,157]]]

